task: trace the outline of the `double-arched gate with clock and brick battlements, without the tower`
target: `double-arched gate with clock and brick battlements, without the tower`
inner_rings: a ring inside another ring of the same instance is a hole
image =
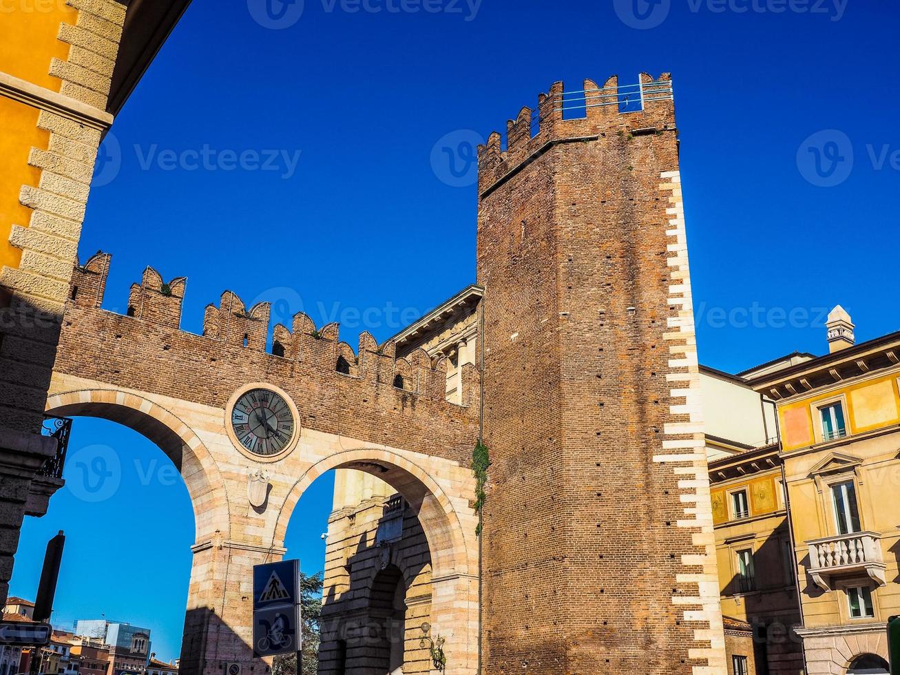
[[[417,512],[433,565],[433,630],[454,653],[454,672],[475,672],[475,369],[464,371],[458,405],[446,401],[444,359],[424,351],[397,358],[392,343],[379,347],[368,333],[354,353],[337,325],[317,329],[304,314],[291,329],[275,326],[270,354],[268,306],[246,308],[230,292],[207,307],[202,336],[186,333],[184,279],[164,284],[150,268],[131,288],[128,314],[114,314],[100,309],[109,264],[98,254],[76,268],[47,408],[138,431],[184,478],[196,540],[182,671],[260,667],[252,658],[252,567],[282,558],[288,521],[311,482],[352,468],[377,475]],[[338,358],[349,373],[338,372]],[[275,455],[257,455],[232,424],[244,395],[260,392],[284,401],[278,419],[293,422]]]

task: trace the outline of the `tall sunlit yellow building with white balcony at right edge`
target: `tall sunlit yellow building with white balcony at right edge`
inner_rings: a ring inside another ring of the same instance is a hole
[[[807,672],[878,672],[900,614],[900,333],[854,345],[837,307],[828,339],[752,384],[778,401]]]

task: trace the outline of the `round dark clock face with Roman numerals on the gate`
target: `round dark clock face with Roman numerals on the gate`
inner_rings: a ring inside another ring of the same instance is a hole
[[[238,443],[254,455],[277,455],[293,438],[293,413],[275,392],[251,389],[234,404],[231,427]]]

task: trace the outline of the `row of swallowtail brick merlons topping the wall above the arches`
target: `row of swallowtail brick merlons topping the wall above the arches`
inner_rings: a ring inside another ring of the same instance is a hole
[[[77,320],[77,310],[99,310],[111,260],[109,254],[98,252],[84,266],[76,266],[67,307],[67,326]],[[103,311],[105,315],[120,318],[117,338],[126,332],[127,321],[135,321],[138,326],[145,325],[148,329],[136,329],[134,336],[148,340],[156,333],[166,342],[163,348],[169,356],[176,356],[179,346],[194,357],[208,353],[212,363],[238,358],[246,360],[248,354],[254,354],[274,363],[302,364],[336,380],[365,381],[391,387],[401,394],[455,405],[446,401],[446,357],[432,359],[421,348],[398,357],[392,340],[379,345],[368,332],[359,336],[354,351],[347,342],[340,340],[338,323],[318,328],[303,312],[293,316],[290,328],[275,324],[272,349],[266,353],[269,303],[258,302],[247,309],[247,305],[231,291],[221,294],[218,305],[206,306],[202,335],[183,331],[180,321],[186,281],[184,277],[176,277],[166,284],[157,270],[147,267],[140,283],[130,288],[126,315]],[[268,365],[264,368],[266,372],[273,369]],[[263,374],[260,375],[262,379]],[[473,366],[464,368],[463,377],[465,407],[477,401],[480,378]]]

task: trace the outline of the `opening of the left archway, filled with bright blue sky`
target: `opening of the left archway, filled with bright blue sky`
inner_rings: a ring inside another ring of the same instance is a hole
[[[162,445],[120,420],[76,417],[65,485],[23,523],[11,594],[34,599],[47,541],[63,530],[51,623],[76,642],[115,642],[110,672],[180,657],[195,523],[180,451]]]

